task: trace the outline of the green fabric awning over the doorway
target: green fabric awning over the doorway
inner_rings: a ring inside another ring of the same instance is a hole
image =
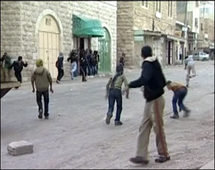
[[[104,28],[96,19],[73,15],[73,35],[77,37],[103,37]]]

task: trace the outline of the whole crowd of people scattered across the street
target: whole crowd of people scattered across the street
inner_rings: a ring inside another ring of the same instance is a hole
[[[117,103],[115,125],[121,126],[121,112],[122,112],[122,95],[126,93],[126,98],[129,98],[129,89],[131,88],[143,88],[145,102],[144,114],[139,128],[139,135],[137,139],[137,151],[135,157],[130,158],[132,163],[136,164],[148,164],[149,153],[148,144],[150,131],[152,127],[156,135],[156,146],[158,157],[156,162],[162,163],[170,160],[170,155],[167,148],[167,142],[164,132],[164,107],[165,99],[163,97],[164,87],[174,92],[172,99],[172,108],[174,115],[171,118],[178,119],[179,114],[177,110],[177,104],[179,111],[184,111],[184,117],[188,117],[190,110],[183,104],[183,100],[187,95],[187,86],[184,86],[177,82],[166,81],[165,75],[162,71],[162,67],[157,57],[152,55],[152,48],[150,46],[144,46],[141,49],[141,56],[143,58],[142,71],[138,79],[128,82],[124,74],[125,54],[120,58],[117,67],[116,74],[111,77],[106,85],[106,98],[108,99],[108,111],[106,113],[106,124],[110,124],[110,120],[113,116],[114,104]],[[7,58],[5,54],[1,61]],[[63,59],[62,53],[56,61],[56,67],[58,68],[57,83],[60,82],[64,75],[63,71]],[[72,50],[67,58],[70,62],[71,79],[79,74],[77,71],[80,66],[80,74],[82,75],[82,81],[86,81],[87,75],[95,75],[98,73],[99,55],[97,51],[92,50]],[[191,63],[190,63],[191,62]],[[190,77],[190,70],[194,70],[194,62],[191,58],[186,59],[185,68],[187,70],[187,76]],[[18,57],[18,61],[15,61],[8,68],[14,67],[17,80],[22,82],[20,77],[22,68],[27,66],[27,63],[22,61],[22,57]],[[187,78],[186,78],[187,80]],[[49,117],[49,90],[53,93],[52,77],[50,72],[44,68],[43,61],[41,59],[36,60],[36,69],[31,76],[32,92],[36,89],[36,102],[38,105],[38,118],[42,119],[43,113],[46,119]],[[122,89],[122,84],[125,87]],[[44,98],[44,111],[42,105],[42,96]]]

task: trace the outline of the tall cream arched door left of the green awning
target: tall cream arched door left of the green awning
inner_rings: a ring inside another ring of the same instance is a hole
[[[44,61],[52,77],[57,76],[55,62],[60,51],[60,30],[56,20],[51,15],[42,18],[39,26],[39,58]]]

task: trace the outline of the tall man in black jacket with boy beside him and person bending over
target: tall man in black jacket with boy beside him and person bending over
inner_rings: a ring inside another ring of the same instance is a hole
[[[124,57],[120,58],[119,64],[116,67],[116,74],[111,77],[106,85],[106,98],[108,98],[108,112],[106,114],[106,124],[110,124],[113,117],[114,103],[117,103],[115,125],[120,126],[123,123],[120,121],[122,112],[122,95],[126,93],[126,98],[129,98],[129,89],[143,88],[144,98],[146,99],[143,118],[139,128],[137,140],[136,156],[130,158],[132,163],[148,164],[149,153],[148,144],[150,131],[152,127],[156,134],[156,146],[158,157],[155,162],[165,162],[170,160],[170,155],[167,149],[166,137],[164,132],[163,112],[165,107],[165,99],[163,97],[164,87],[174,92],[172,99],[172,107],[174,115],[171,118],[179,118],[179,111],[184,111],[184,117],[188,117],[190,110],[183,104],[183,100],[187,94],[187,87],[172,81],[166,81],[161,65],[157,57],[152,55],[150,46],[144,46],[141,49],[143,58],[142,72],[138,79],[128,83],[126,76],[123,73]],[[189,64],[188,64],[189,65]],[[124,89],[122,90],[122,84]]]

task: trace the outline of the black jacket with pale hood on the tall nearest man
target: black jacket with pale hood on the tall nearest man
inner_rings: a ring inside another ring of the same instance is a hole
[[[148,59],[148,60],[147,60]],[[129,88],[144,86],[146,101],[152,101],[164,93],[166,80],[161,66],[155,57],[148,57],[142,64],[142,73],[139,79],[129,83]]]

